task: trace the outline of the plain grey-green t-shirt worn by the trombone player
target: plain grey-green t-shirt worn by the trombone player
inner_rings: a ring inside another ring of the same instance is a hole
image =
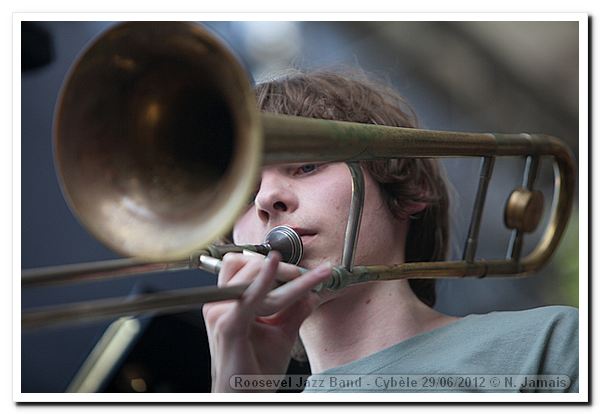
[[[313,375],[304,391],[578,392],[579,313],[547,306],[468,315]]]

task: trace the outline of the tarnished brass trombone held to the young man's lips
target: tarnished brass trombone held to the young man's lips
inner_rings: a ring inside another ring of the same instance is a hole
[[[121,23],[93,41],[61,90],[54,147],[61,189],[74,214],[101,242],[131,259],[24,270],[23,288],[148,271],[217,272],[223,251],[209,243],[233,226],[264,165],[348,164],[353,194],[343,259],[319,287],[330,290],[373,280],[533,272],[556,249],[575,188],[572,153],[548,135],[430,131],[260,113],[233,54],[201,26],[185,22]],[[507,255],[476,259],[488,183],[495,159],[503,156],[526,160],[522,185],[509,195],[504,210],[512,231]],[[546,156],[554,165],[550,219],[538,245],[522,257],[523,237],[542,217],[543,195],[534,187],[540,158]],[[354,266],[364,198],[358,161],[400,157],[482,159],[462,260]],[[264,253],[271,247],[225,249]],[[37,309],[22,313],[22,326],[180,311],[239,298],[245,288],[197,288],[126,304],[107,299]]]

